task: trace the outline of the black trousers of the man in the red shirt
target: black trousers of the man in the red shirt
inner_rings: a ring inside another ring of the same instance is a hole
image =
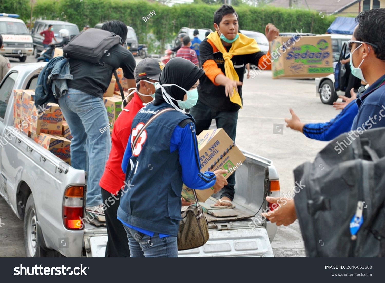
[[[108,235],[107,245],[105,246],[105,257],[128,258],[130,257],[130,248],[128,246],[127,233],[122,225],[122,222],[116,218],[120,203],[121,190],[119,190],[115,198],[111,195],[111,193],[103,188],[101,188],[101,190],[103,203],[110,206],[105,206],[106,209],[104,211]],[[116,200],[116,198],[118,200]]]

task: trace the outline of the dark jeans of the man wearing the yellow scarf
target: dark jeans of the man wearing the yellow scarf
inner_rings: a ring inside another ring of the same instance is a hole
[[[190,114],[192,117],[194,117],[197,135],[199,135],[204,130],[208,130],[210,128],[211,121],[215,119],[217,128],[223,128],[229,137],[235,141],[238,111],[224,112],[214,110],[213,108],[198,100],[196,105],[190,109]],[[221,190],[221,198],[223,196],[227,196],[233,200],[235,192],[235,172],[229,176],[227,181],[228,185],[224,186],[224,188]]]

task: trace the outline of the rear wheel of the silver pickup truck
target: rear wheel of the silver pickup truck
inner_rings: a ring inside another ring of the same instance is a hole
[[[37,215],[32,194],[29,195],[24,213],[24,246],[28,258],[44,257],[37,233]]]

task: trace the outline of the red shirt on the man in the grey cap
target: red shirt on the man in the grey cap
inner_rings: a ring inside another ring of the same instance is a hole
[[[122,160],[128,139],[131,134],[131,124],[136,113],[143,107],[141,98],[134,92],[134,98],[124,107],[116,119],[112,130],[112,147],[110,156],[105,164],[105,170],[99,186],[116,195],[124,186],[125,174],[122,171]]]

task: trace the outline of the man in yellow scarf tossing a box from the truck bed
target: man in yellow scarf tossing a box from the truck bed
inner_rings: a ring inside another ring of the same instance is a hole
[[[238,33],[238,14],[233,7],[222,5],[214,13],[215,32],[210,33],[200,46],[201,64],[206,72],[198,87],[199,100],[191,108],[196,133],[208,130],[212,119],[217,128],[223,128],[235,141],[238,110],[242,108],[241,85],[247,63],[262,70],[270,70],[269,52],[264,54],[252,38]],[[269,41],[279,36],[275,25],[268,23],[265,29]],[[217,202],[219,208],[233,207],[235,172],[227,179]]]

